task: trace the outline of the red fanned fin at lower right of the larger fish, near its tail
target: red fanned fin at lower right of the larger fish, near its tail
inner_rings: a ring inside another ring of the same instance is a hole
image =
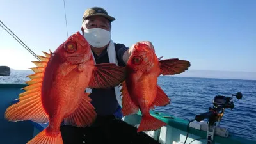
[[[84,97],[81,100],[81,103],[74,111],[74,113],[64,118],[65,125],[86,127],[93,123],[93,121],[97,117],[97,113],[95,112],[95,108],[90,103],[92,99],[90,99],[88,95],[90,95],[90,93],[85,93]]]

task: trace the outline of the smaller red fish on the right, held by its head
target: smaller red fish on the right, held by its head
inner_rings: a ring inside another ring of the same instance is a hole
[[[160,59],[160,58],[159,58]],[[138,131],[156,130],[166,125],[150,115],[155,106],[166,106],[170,99],[157,85],[157,77],[180,74],[190,67],[189,61],[179,59],[160,60],[154,49],[142,43],[134,45],[127,62],[127,77],[122,83],[122,113],[124,116],[142,113]]]

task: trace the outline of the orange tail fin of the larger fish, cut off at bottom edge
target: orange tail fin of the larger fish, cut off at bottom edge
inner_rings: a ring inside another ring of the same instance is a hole
[[[56,133],[47,132],[47,128],[37,134],[35,138],[28,141],[26,144],[63,144],[61,132]]]

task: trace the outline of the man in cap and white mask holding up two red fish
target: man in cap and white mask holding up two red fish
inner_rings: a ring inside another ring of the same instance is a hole
[[[103,8],[88,8],[83,15],[81,31],[91,46],[95,63],[116,63],[125,67],[134,45],[129,49],[124,44],[113,43],[110,31],[114,20]],[[153,47],[148,41],[143,43]],[[89,97],[97,112],[97,119],[91,127],[86,128],[61,126],[64,144],[157,143],[142,132],[137,134],[135,127],[121,120],[120,92],[117,87],[86,89],[86,92],[92,92]]]

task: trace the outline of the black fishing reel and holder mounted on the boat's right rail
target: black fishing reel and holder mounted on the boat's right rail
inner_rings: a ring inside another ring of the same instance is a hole
[[[238,99],[238,100],[242,99],[242,97],[243,97],[241,92],[237,92],[236,94],[232,94],[231,97],[225,97],[223,95],[216,95],[214,97],[213,102],[212,102],[213,107],[212,108],[209,107],[209,111],[195,116],[194,120],[196,120],[197,122],[200,122],[200,121],[204,120],[205,118],[208,118],[206,138],[198,138],[198,139],[195,139],[195,140],[206,139],[207,144],[212,143],[212,141],[214,140],[214,131],[215,131],[216,127],[218,127],[218,125],[220,125],[220,121],[221,121],[221,119],[224,115],[225,109],[230,108],[232,110],[235,107],[234,102],[233,102],[233,97],[234,96],[236,96],[236,99]],[[186,136],[186,140],[184,141],[184,143],[186,143],[187,138],[188,138],[189,124],[191,122],[193,122],[194,120],[189,121],[189,123],[187,125],[187,136]],[[193,141],[195,141],[195,140],[193,140]],[[191,143],[193,141],[191,141]]]

